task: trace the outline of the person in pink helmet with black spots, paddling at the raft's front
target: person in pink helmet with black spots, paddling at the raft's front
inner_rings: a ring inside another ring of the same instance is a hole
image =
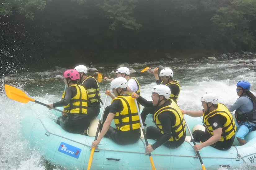
[[[80,76],[77,70],[67,70],[63,77],[67,88],[62,100],[48,104],[49,109],[63,106],[65,114],[62,113],[62,116],[58,117],[57,124],[70,133],[83,134],[91,121],[87,115],[88,92],[78,84]]]

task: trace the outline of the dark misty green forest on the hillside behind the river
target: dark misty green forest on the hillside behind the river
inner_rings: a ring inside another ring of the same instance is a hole
[[[256,0],[0,0],[0,57],[35,69],[255,52]]]

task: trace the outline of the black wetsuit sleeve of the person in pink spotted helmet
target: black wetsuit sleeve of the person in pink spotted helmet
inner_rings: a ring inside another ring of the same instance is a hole
[[[72,86],[72,87],[66,88],[64,98],[61,101],[54,103],[53,107],[56,108],[56,107],[63,107],[68,105],[70,103],[70,99],[74,97],[76,94],[77,94],[76,87]]]

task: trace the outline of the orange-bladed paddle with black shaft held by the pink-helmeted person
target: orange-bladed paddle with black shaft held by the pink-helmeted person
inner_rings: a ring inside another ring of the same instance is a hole
[[[6,95],[8,98],[18,101],[20,103],[28,103],[29,101],[35,102],[37,104],[41,104],[43,106],[46,106],[47,108],[49,108],[49,106],[47,104],[41,103],[37,100],[34,100],[32,98],[30,98],[29,96],[27,96],[23,91],[21,91],[20,89],[17,89],[15,87],[9,86],[7,84],[4,85],[4,89],[6,92]],[[63,111],[57,109],[57,108],[53,108],[54,110],[57,110],[61,113],[64,113]]]

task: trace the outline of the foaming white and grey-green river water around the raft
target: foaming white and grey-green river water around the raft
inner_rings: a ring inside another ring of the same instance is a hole
[[[254,61],[253,59],[251,61]],[[238,96],[236,95],[236,83],[239,80],[249,81],[252,85],[251,91],[256,91],[256,72],[247,68],[246,65],[239,65],[238,60],[226,62],[197,62],[191,64],[180,64],[177,69],[173,69],[173,78],[181,85],[181,93],[178,105],[184,110],[200,110],[200,97],[205,92],[218,94],[219,101],[223,104],[233,104]],[[137,77],[141,84],[141,96],[150,100],[151,88],[155,86],[152,74],[144,77]],[[3,82],[0,86],[0,169],[18,170],[61,170],[59,167],[47,163],[42,156],[29,147],[28,141],[22,137],[20,119],[23,117],[22,110],[31,109],[42,117],[50,117],[56,120],[47,108],[29,102],[28,104],[18,103],[6,97]],[[12,85],[12,84],[10,84]],[[13,85],[14,86],[14,85]],[[16,87],[24,90],[35,100],[43,103],[52,103],[61,99],[65,84],[63,81],[46,83],[26,84],[19,83]],[[104,101],[104,91],[109,88],[109,83],[100,83],[100,91]],[[108,100],[110,104],[110,100]],[[218,168],[226,170],[227,168]],[[250,169],[255,167],[243,166],[229,169]]]

